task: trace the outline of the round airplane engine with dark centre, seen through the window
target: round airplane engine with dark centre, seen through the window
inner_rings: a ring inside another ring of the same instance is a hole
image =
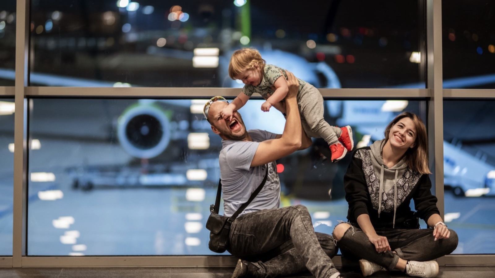
[[[155,105],[129,107],[119,117],[117,136],[131,155],[152,158],[162,153],[170,141],[170,123],[165,112]]]

